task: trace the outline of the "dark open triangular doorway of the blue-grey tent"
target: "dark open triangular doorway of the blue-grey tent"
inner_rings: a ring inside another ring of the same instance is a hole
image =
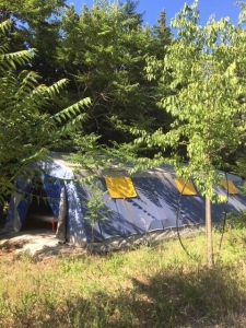
[[[37,180],[32,191],[31,204],[22,230],[40,230],[55,233],[56,226],[57,218],[54,216],[44,185]]]

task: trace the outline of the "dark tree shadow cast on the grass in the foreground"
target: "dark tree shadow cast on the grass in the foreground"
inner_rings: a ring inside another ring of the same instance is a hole
[[[246,327],[245,292],[230,274],[230,268],[192,273],[169,268],[131,281],[132,286],[115,296],[103,291],[83,298],[74,292],[57,307],[46,306],[38,327]],[[22,313],[17,316],[16,323],[21,323]],[[23,323],[27,324],[13,327],[36,327],[32,326],[34,321],[32,312],[25,313]]]

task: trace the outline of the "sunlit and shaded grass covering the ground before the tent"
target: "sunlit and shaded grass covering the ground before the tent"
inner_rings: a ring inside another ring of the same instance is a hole
[[[246,231],[227,229],[215,268],[204,236],[43,260],[0,249],[0,327],[246,327]]]

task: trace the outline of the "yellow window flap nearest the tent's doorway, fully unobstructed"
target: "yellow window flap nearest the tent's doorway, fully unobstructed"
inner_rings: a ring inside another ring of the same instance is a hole
[[[105,177],[105,181],[112,198],[137,197],[134,186],[129,177]]]

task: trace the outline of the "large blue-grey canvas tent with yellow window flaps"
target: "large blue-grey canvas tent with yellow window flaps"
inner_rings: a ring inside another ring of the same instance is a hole
[[[50,220],[58,222],[56,235],[60,242],[83,247],[94,242],[99,249],[119,248],[133,241],[163,238],[176,231],[177,226],[184,230],[204,224],[204,199],[191,181],[183,189],[184,181],[177,179],[171,166],[139,172],[132,176],[127,168],[118,167],[97,173],[92,184],[102,190],[103,206],[97,213],[98,222],[93,229],[87,206],[92,198],[91,184],[81,183],[90,173],[84,169],[74,172],[74,167],[58,154],[40,166],[42,187],[50,207]],[[229,175],[227,179],[227,211],[245,210],[246,198],[238,192],[242,179],[234,175]],[[20,178],[16,181],[5,232],[20,231],[30,214],[33,188],[31,180],[32,177],[30,180]],[[181,197],[180,189],[185,194]],[[215,191],[224,197],[227,195],[223,186],[215,187]],[[224,211],[225,203],[212,204],[213,222],[220,222]]]

